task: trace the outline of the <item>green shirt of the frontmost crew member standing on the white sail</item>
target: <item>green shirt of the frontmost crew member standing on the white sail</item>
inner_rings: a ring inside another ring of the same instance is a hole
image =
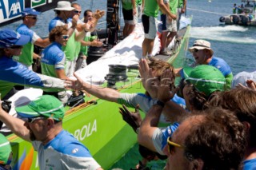
[[[158,10],[159,6],[157,0],[145,0],[144,14],[146,14],[146,16],[157,18]]]

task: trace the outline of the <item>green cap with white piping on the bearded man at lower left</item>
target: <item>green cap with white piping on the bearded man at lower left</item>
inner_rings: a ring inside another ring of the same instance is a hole
[[[50,95],[38,97],[34,101],[30,101],[28,105],[18,107],[15,110],[21,117],[50,117],[56,121],[62,121],[65,113],[62,102]]]

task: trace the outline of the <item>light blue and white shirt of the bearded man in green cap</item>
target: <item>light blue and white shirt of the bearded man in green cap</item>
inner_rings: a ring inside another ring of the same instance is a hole
[[[46,145],[41,141],[33,141],[32,144],[34,150],[38,152],[40,169],[95,170],[100,168],[90,155],[88,148],[64,130]]]

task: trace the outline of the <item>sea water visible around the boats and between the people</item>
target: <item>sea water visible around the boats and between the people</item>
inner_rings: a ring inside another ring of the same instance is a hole
[[[76,1],[84,10],[106,10],[106,0],[78,0]],[[224,26],[218,19],[221,16],[232,13],[234,3],[241,5],[238,0],[188,0],[186,15],[193,16],[192,29],[190,31],[189,46],[193,45],[196,39],[205,39],[211,43],[214,49],[214,56],[222,57],[231,67],[234,75],[241,71],[254,71],[256,60],[256,27],[246,26]],[[122,12],[120,10],[120,17]],[[54,18],[54,10],[42,13],[38,17],[37,25],[32,29],[41,36],[48,35],[48,24]],[[106,28],[106,15],[101,18],[99,28]],[[123,21],[121,19],[121,25]],[[22,22],[15,22],[2,28],[17,28]],[[193,61],[192,55],[186,53],[186,64]],[[122,120],[120,120],[122,121]],[[131,129],[130,132],[133,132]],[[141,157],[138,154],[138,144],[135,144],[123,158],[118,161],[112,168],[130,169],[138,164]],[[152,161],[149,166],[151,169],[162,169],[165,161]],[[112,169],[110,168],[110,169]]]

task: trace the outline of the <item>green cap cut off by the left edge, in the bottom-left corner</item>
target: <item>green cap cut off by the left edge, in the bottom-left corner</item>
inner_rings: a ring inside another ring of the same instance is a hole
[[[0,164],[6,164],[10,156],[10,142],[0,133]]]

